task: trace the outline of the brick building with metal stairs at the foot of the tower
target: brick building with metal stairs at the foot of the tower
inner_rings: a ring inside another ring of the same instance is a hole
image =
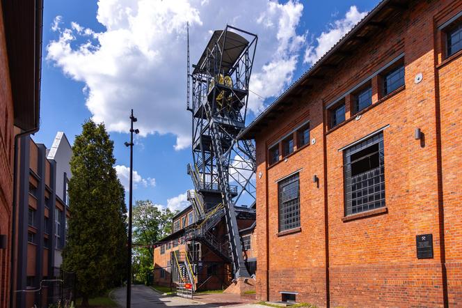
[[[193,192],[189,192],[191,194]],[[239,234],[241,235],[244,260],[250,274],[255,273],[257,266],[255,240],[255,208],[235,206]],[[212,217],[209,211],[207,217]],[[191,230],[200,229],[207,221],[198,220],[193,206],[188,206],[177,213],[172,220],[173,232],[161,239],[154,248],[154,284],[161,286],[177,286],[177,268],[182,263],[191,264],[195,290],[218,290],[227,288],[232,280],[232,266],[228,251],[228,233],[225,217],[219,217],[209,237],[198,239],[191,237]],[[212,220],[212,218],[210,218]],[[212,240],[213,238],[213,240]],[[186,254],[188,258],[186,259]],[[175,257],[176,255],[176,257]]]

